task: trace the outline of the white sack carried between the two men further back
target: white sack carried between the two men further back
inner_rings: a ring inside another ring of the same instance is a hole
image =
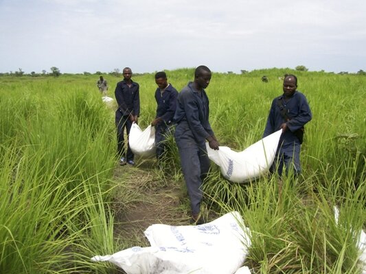
[[[133,123],[130,129],[130,136],[128,137],[130,149],[135,155],[142,158],[149,158],[155,155],[155,127],[149,125],[142,131],[137,125]]]

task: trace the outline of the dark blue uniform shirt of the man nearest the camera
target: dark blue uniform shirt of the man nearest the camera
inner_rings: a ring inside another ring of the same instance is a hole
[[[205,90],[198,92],[192,82],[179,92],[176,100],[174,122],[178,127],[190,129],[197,142],[205,142],[214,132],[209,124],[209,99]]]

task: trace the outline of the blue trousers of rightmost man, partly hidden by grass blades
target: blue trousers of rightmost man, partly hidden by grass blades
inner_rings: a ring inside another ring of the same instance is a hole
[[[277,171],[278,175],[282,176],[284,166],[286,166],[286,175],[290,170],[293,171],[293,175],[299,175],[301,173],[300,150],[301,145],[299,142],[279,146],[276,151],[275,161],[269,169],[270,172],[275,173]]]

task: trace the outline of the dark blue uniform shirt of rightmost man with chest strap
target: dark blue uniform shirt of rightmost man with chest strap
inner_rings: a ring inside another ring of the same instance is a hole
[[[273,132],[277,132],[277,130],[281,128],[282,123],[286,123],[286,120],[281,115],[281,110],[277,101],[283,104],[283,106],[288,110],[287,115],[290,118],[290,121],[287,121],[288,129],[284,134],[282,134],[279,140],[279,144],[286,147],[286,145],[293,145],[293,142],[299,142],[299,139],[293,134],[293,132],[304,127],[304,125],[312,119],[312,113],[305,95],[297,90],[293,96],[288,99],[288,101],[284,100],[284,95],[276,97],[272,101],[263,138],[273,134]]]

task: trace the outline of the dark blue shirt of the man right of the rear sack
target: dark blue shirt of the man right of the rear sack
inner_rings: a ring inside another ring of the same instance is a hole
[[[157,88],[155,91],[155,100],[157,100],[156,118],[161,117],[166,124],[170,124],[173,121],[177,96],[178,91],[171,84],[165,88],[163,93],[161,93],[160,88]]]

